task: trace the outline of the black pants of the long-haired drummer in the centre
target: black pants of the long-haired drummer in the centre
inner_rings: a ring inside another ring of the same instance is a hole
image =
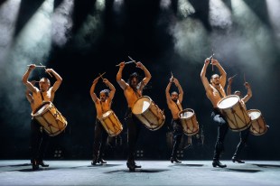
[[[127,126],[127,144],[128,144],[128,158],[127,161],[135,161],[135,146],[141,131],[141,122],[132,114],[131,108],[128,107],[126,111],[126,126]]]

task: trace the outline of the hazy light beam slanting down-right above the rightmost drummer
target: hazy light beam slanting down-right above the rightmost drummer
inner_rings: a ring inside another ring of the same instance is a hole
[[[269,29],[262,23],[257,15],[243,0],[232,0],[232,17],[236,23],[236,39],[238,58],[249,65],[251,70],[262,72],[265,75],[265,68],[274,58],[273,40]],[[255,68],[255,69],[253,69]]]

